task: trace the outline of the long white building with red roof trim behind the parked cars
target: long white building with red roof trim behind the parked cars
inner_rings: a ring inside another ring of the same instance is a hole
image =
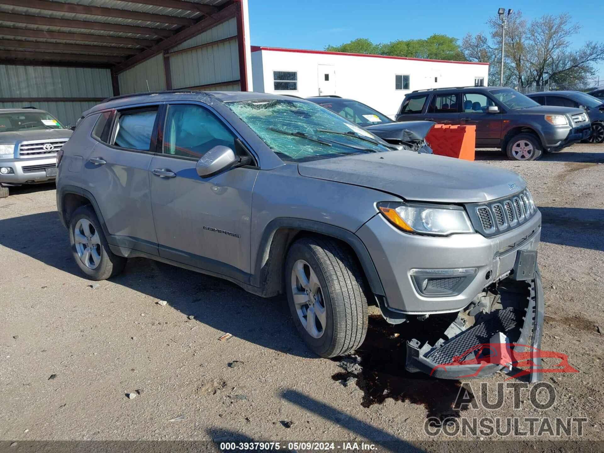
[[[336,94],[390,117],[416,89],[486,85],[489,63],[251,46],[254,91]]]

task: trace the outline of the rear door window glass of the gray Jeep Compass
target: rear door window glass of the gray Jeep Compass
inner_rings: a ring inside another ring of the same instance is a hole
[[[157,106],[117,112],[114,146],[138,151],[149,151]]]

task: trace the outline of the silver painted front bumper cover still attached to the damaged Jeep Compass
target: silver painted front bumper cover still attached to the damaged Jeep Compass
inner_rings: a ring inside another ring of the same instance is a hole
[[[385,292],[385,308],[413,315],[457,312],[483,288],[511,271],[519,250],[535,251],[541,239],[541,213],[498,236],[452,234],[448,237],[403,233],[377,215],[356,235],[367,247]],[[477,268],[474,279],[451,297],[420,295],[411,269]],[[392,317],[392,316],[389,316]]]

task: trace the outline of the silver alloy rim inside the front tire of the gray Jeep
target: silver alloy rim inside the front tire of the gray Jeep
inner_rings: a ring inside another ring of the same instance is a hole
[[[325,332],[327,312],[323,289],[309,263],[298,260],[292,269],[292,295],[298,318],[313,338]]]

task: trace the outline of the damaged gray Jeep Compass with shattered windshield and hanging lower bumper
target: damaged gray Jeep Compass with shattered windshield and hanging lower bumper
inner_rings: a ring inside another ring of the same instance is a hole
[[[406,343],[406,368],[450,379],[511,368],[472,363],[470,347],[540,345],[541,214],[516,173],[393,149],[303,99],[196,91],[104,101],[58,167],[57,209],[92,280],[146,257],[286,294],[323,357],[362,344],[374,304],[437,332]]]

